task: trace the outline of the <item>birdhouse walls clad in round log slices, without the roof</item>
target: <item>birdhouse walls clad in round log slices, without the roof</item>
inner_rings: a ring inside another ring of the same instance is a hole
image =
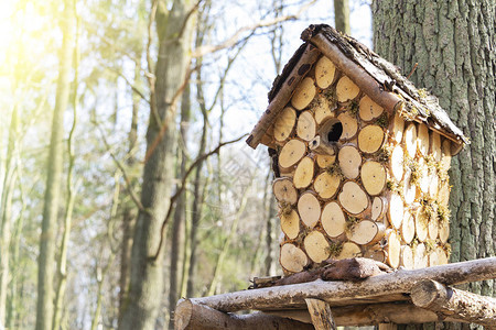
[[[388,114],[324,56],[270,140],[285,274],[353,256],[448,263],[449,140]]]

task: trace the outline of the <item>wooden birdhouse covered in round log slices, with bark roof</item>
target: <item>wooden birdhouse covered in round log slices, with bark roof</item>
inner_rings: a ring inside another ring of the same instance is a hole
[[[327,25],[302,40],[247,140],[269,147],[284,273],[354,256],[446,264],[448,169],[467,139],[435,97],[356,40]]]

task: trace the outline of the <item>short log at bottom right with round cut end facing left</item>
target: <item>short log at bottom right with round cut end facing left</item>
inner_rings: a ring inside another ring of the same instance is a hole
[[[435,280],[422,280],[411,290],[418,307],[486,327],[496,327],[496,299],[483,297]]]

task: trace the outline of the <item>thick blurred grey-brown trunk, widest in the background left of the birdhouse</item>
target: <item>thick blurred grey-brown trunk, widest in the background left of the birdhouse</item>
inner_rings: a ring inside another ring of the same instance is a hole
[[[173,183],[175,100],[188,64],[187,1],[175,0],[170,12],[159,6],[157,29],[159,56],[152,86],[147,163],[143,168],[141,204],[131,251],[128,305],[119,329],[153,329],[163,297],[163,249],[157,258],[161,226],[169,208]],[[183,25],[185,31],[182,30]],[[160,121],[160,122],[159,122]],[[163,124],[166,124],[163,131]]]

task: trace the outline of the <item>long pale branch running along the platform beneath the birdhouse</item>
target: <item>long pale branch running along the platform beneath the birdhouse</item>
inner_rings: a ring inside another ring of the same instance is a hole
[[[401,270],[377,275],[360,282],[323,282],[268,287],[229,293],[212,297],[193,298],[196,304],[207,305],[222,311],[247,309],[277,309],[304,306],[305,298],[327,301],[331,307],[344,299],[371,299],[377,296],[409,294],[413,285],[433,279],[446,285],[496,278],[496,257],[487,257],[423,270]],[[370,302],[370,301],[369,301]]]

